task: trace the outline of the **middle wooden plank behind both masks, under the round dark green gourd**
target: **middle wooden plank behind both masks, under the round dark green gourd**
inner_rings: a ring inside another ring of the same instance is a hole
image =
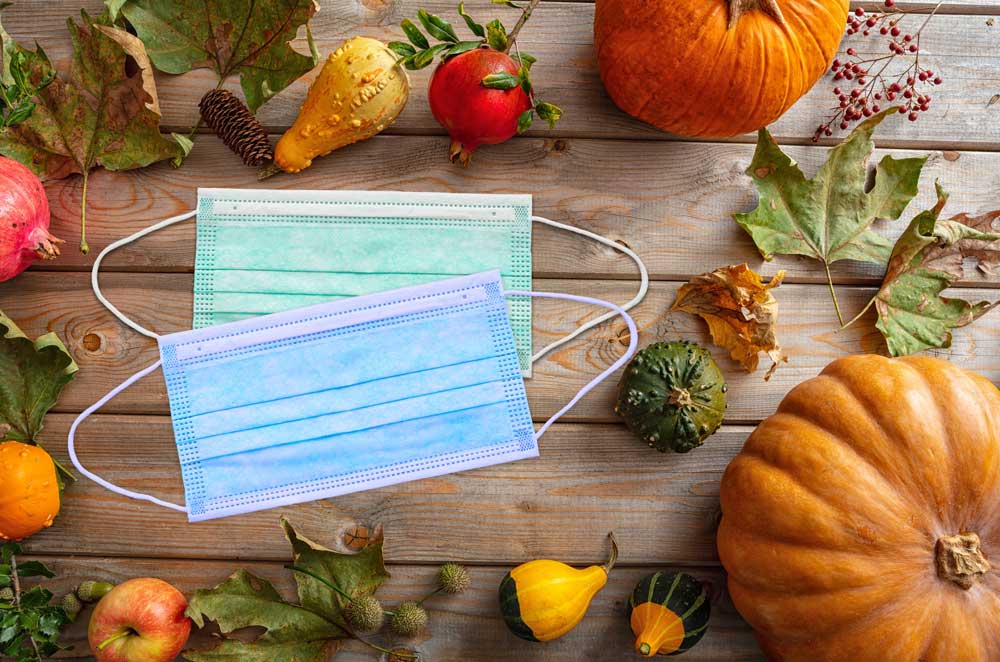
[[[770,273],[770,272],[769,272]],[[188,274],[108,274],[104,292],[121,310],[140,324],[160,333],[190,328],[191,276]],[[686,313],[662,315],[673,304],[679,283],[653,283],[646,300],[633,313],[643,333],[641,344],[656,340],[686,338],[709,345],[707,327]],[[625,302],[635,284],[628,281],[535,279],[541,291],[570,292]],[[859,311],[873,291],[839,288],[845,315]],[[973,300],[995,300],[996,290],[968,289]],[[844,332],[838,324],[826,288],[819,285],[784,285],[777,290],[781,302],[778,338],[791,356],[770,382],[762,381],[763,370],[748,375],[725,352],[714,355],[730,384],[730,422],[754,423],[771,414],[785,393],[812,377],[830,361],[864,352],[883,352],[881,335],[873,327],[873,315]],[[94,299],[86,274],[27,273],[0,285],[0,310],[4,310],[31,335],[55,331],[62,337],[81,366],[80,376],[67,387],[59,411],[79,412],[115,385],[157,357],[155,343],[128,330]],[[535,308],[535,343],[562,337],[594,314],[586,306],[541,300]],[[575,342],[554,352],[536,366],[528,380],[528,397],[536,420],[544,420],[568,402],[587,381],[613,363],[623,351],[618,335],[624,324],[612,320]],[[1000,315],[992,314],[972,326],[959,329],[950,350],[935,352],[963,367],[978,370],[1000,381]],[[764,362],[766,367],[766,361]],[[616,379],[601,384],[567,417],[576,421],[612,421]],[[153,375],[108,404],[108,413],[166,414],[163,379]]]

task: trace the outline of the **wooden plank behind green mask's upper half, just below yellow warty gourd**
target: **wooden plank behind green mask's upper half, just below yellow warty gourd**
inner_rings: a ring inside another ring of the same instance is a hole
[[[48,186],[53,233],[67,241],[63,255],[37,265],[45,270],[89,269],[109,243],[154,221],[194,208],[197,187],[299,189],[394,189],[479,193],[531,193],[538,214],[579,225],[630,246],[642,256],[654,279],[686,280],[724,264],[750,262],[758,270],[788,271],[790,282],[825,282],[822,266],[798,257],[761,260],[749,236],[731,219],[756,204],[743,173],[753,147],[736,144],[666,143],[587,139],[513,140],[482,153],[478,167],[455,168],[441,154],[443,138],[380,136],[320,160],[296,176],[263,183],[218,140],[207,136],[184,168],[158,164],[131,173],[97,171],[90,180],[89,241],[79,243],[80,181]],[[812,174],[828,150],[791,147],[789,153]],[[927,155],[924,151],[880,150],[876,158]],[[918,210],[933,205],[933,182],[952,194],[947,211],[982,213],[1000,207],[1000,154],[932,152],[924,168],[921,194],[903,219],[880,223],[896,237]],[[161,231],[113,253],[104,269],[191,271],[194,221]],[[711,247],[706,250],[706,247]],[[535,228],[534,272],[542,277],[635,277],[632,261],[595,242],[547,227]],[[706,260],[708,257],[708,260]],[[840,262],[839,283],[875,284],[879,265]],[[997,277],[992,284],[996,286]],[[989,286],[974,269],[969,284]]]

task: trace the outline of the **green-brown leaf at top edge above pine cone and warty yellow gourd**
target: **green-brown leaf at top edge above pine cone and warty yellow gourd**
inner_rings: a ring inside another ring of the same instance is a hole
[[[239,74],[250,110],[288,87],[319,63],[308,34],[315,0],[107,0],[146,44],[160,71],[182,74],[213,69],[224,80]],[[312,56],[289,46],[306,25]]]

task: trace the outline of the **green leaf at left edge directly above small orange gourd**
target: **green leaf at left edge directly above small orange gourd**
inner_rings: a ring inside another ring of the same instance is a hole
[[[0,440],[37,443],[45,414],[78,369],[56,334],[33,341],[0,312]]]

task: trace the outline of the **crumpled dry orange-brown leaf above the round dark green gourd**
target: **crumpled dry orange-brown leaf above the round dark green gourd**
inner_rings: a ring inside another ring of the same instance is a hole
[[[771,290],[785,277],[779,271],[769,282],[746,264],[716,269],[691,279],[677,292],[671,312],[683,310],[708,323],[712,341],[740,363],[747,372],[757,369],[760,352],[773,365],[764,375],[768,380],[788,357],[778,345],[778,301]]]

